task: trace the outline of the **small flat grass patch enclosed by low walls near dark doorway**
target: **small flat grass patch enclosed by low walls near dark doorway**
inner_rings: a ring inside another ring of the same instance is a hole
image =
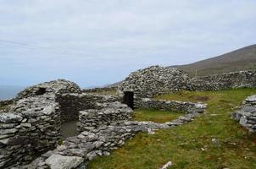
[[[181,112],[169,112],[169,111],[159,111],[159,110],[145,110],[136,109],[133,114],[134,121],[151,121],[154,123],[165,123],[174,120],[175,118],[181,116]]]

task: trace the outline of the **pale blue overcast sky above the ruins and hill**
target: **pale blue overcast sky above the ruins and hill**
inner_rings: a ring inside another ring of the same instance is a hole
[[[0,85],[108,85],[256,43],[255,0],[0,0]]]

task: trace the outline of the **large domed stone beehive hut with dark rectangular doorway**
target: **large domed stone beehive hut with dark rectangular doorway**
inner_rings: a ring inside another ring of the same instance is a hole
[[[190,88],[191,81],[183,71],[152,66],[131,73],[120,85],[119,92],[124,102],[133,108],[142,98]]]

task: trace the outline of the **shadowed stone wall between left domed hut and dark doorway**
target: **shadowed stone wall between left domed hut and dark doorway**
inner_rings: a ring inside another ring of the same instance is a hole
[[[63,94],[56,95],[61,110],[61,121],[70,122],[78,119],[79,112],[86,109],[101,109],[109,102],[120,101],[116,95]]]

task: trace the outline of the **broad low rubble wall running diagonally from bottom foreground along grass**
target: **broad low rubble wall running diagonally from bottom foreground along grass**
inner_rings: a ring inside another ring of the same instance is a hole
[[[85,169],[88,162],[96,156],[110,155],[111,150],[118,149],[125,144],[125,140],[131,139],[138,132],[154,134],[156,129],[175,128],[190,123],[199,115],[198,112],[192,112],[167,123],[127,121],[94,128],[64,140],[64,144],[58,146],[56,150],[48,151],[30,165],[19,166],[19,169],[49,167]]]

